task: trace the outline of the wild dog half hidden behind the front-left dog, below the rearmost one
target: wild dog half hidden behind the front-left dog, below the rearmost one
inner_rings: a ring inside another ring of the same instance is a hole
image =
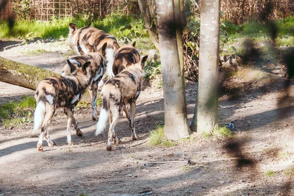
[[[105,51],[107,43],[105,43],[102,47],[102,51]],[[69,63],[66,63],[63,67],[63,71],[61,75],[70,75],[72,72],[76,70],[81,70],[82,65],[86,62],[90,62],[89,66],[89,74],[90,74],[90,83],[88,86],[88,90],[92,99],[92,119],[96,121],[97,119],[97,109],[96,109],[96,101],[97,101],[97,90],[98,83],[100,82],[106,63],[105,58],[100,52],[89,52],[88,54],[84,54],[81,56],[76,56],[68,60]],[[73,68],[72,68],[73,67]]]

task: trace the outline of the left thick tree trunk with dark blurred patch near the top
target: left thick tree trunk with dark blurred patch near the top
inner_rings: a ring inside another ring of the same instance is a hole
[[[156,0],[159,28],[159,51],[165,110],[165,135],[178,140],[190,133],[185,102],[185,88],[177,47],[173,1]]]

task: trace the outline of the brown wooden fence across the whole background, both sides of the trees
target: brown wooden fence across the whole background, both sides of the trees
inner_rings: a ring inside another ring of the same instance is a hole
[[[151,2],[151,0],[145,1]],[[186,1],[197,4],[200,0]],[[52,17],[61,18],[79,14],[91,19],[114,13],[137,16],[140,14],[137,0],[7,0],[7,2],[1,10],[1,19],[7,19],[12,14],[17,16],[16,19],[41,21],[50,21]],[[269,7],[271,12],[266,13]],[[28,9],[29,13],[25,9]],[[294,0],[221,0],[221,13],[222,19],[236,24],[243,23],[249,18],[259,18],[261,15],[271,19],[284,18],[294,14]]]

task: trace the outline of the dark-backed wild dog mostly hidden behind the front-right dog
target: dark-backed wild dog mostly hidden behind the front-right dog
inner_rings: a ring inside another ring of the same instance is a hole
[[[124,44],[117,51],[112,66],[112,71],[114,75],[122,72],[124,68],[136,64],[140,61],[140,54],[135,49],[136,42],[131,44]]]

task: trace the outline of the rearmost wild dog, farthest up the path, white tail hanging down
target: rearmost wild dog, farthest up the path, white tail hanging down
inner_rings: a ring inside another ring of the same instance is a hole
[[[70,47],[77,54],[83,55],[88,52],[100,51],[103,45],[107,43],[105,54],[103,54],[107,61],[106,73],[110,78],[113,77],[112,65],[114,62],[114,56],[120,48],[116,38],[103,30],[90,26],[90,24],[78,29],[76,25],[70,23],[69,30]]]

